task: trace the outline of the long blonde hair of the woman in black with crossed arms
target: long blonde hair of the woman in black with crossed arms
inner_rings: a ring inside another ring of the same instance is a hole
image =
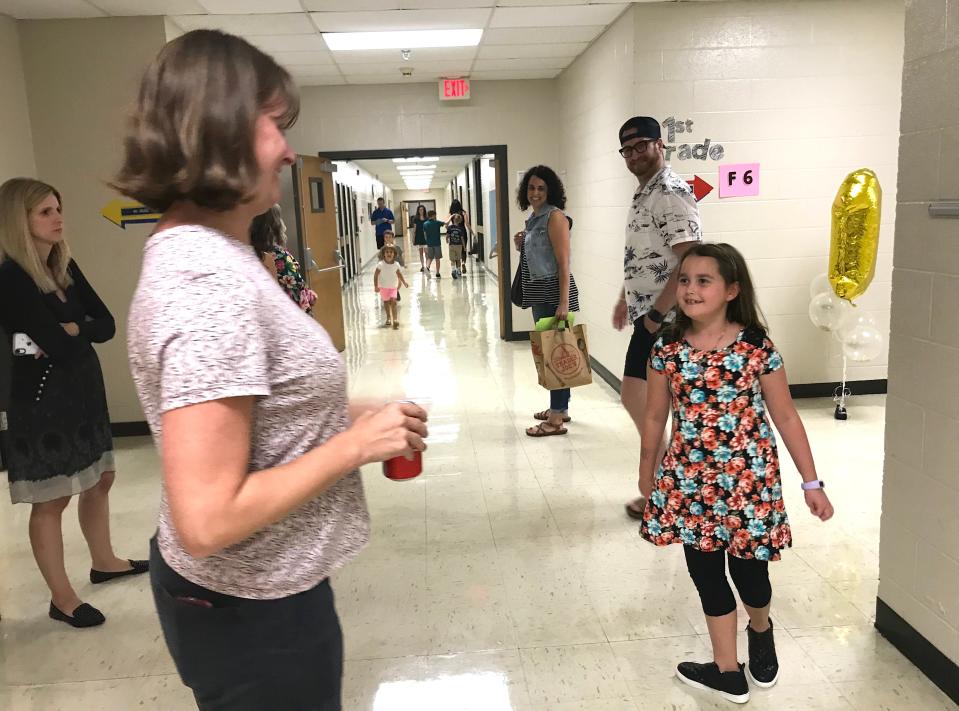
[[[70,247],[66,241],[53,245],[44,264],[30,234],[30,212],[50,195],[63,205],[55,187],[33,178],[11,178],[0,185],[0,264],[8,259],[16,262],[44,294],[73,283],[67,271]]]

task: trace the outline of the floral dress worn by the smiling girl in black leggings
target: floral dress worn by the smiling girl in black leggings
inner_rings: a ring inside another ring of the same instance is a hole
[[[673,429],[640,535],[779,560],[792,533],[760,389],[760,377],[783,365],[772,341],[750,329],[727,348],[703,351],[660,338],[650,362],[668,379]]]

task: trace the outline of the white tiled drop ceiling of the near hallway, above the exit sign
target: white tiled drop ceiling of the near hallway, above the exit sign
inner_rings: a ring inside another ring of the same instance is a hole
[[[660,0],[634,0],[659,2]],[[241,35],[301,86],[432,82],[441,77],[551,79],[629,6],[623,0],[0,0],[17,19],[163,15],[168,36]],[[321,32],[484,30],[476,47],[331,52]],[[412,69],[403,77],[401,69]]]

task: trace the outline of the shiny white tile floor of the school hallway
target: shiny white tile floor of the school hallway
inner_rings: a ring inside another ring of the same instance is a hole
[[[334,580],[344,708],[729,708],[672,676],[676,662],[707,658],[708,637],[678,546],[644,543],[623,514],[639,447],[616,394],[602,383],[578,388],[569,436],[527,438],[530,414],[548,399],[529,346],[497,338],[494,285],[475,270],[460,281],[410,271],[399,331],[377,328],[368,279],[346,298],[352,393],[429,399],[432,436],[419,479],[364,472],[373,540]],[[872,627],[883,398],[856,398],[846,423],[828,402],[800,408],[837,514],[813,520],[787,467],[796,546],[771,566],[783,674],[754,691],[751,707],[955,709]],[[147,438],[116,444],[118,552],[145,556],[157,458]],[[0,503],[0,709],[194,708],[147,581],[84,583],[89,561],[73,516],[69,570],[109,621],[75,631],[46,617],[27,515]]]

